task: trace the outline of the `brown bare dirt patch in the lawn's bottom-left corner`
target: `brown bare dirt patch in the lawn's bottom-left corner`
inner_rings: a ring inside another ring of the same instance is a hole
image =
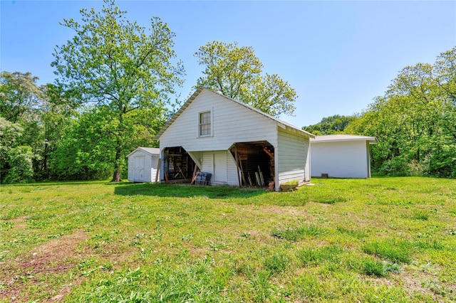
[[[44,282],[48,277],[63,273],[76,267],[78,244],[86,240],[87,235],[77,230],[70,235],[63,235],[39,245],[15,260],[0,262],[0,301],[25,302],[36,294],[54,294],[49,302],[58,302],[71,291],[71,285],[78,285],[78,279],[63,287],[59,294],[53,292],[53,285]],[[48,276],[48,277],[46,277]]]

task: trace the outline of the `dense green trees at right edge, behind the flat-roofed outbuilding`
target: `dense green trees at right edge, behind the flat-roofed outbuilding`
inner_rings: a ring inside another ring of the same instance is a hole
[[[400,71],[383,97],[346,131],[378,137],[374,169],[383,174],[456,177],[456,48],[435,63]]]

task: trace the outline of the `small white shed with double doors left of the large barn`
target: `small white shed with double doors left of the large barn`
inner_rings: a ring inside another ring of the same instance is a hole
[[[155,182],[160,149],[138,147],[128,156],[128,181]]]

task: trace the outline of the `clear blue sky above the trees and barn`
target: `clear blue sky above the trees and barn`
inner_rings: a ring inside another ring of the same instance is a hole
[[[59,25],[100,1],[0,0],[0,69],[54,80],[53,50],[73,31]],[[182,99],[202,66],[193,54],[207,41],[252,46],[264,71],[298,92],[297,127],[331,115],[361,112],[383,95],[398,71],[434,63],[456,46],[456,1],[117,1],[130,21],[160,16],[177,34],[187,76]]]

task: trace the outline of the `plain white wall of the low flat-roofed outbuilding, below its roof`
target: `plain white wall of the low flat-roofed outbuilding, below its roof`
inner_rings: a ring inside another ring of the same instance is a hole
[[[334,178],[368,178],[366,141],[312,142],[311,175]]]

